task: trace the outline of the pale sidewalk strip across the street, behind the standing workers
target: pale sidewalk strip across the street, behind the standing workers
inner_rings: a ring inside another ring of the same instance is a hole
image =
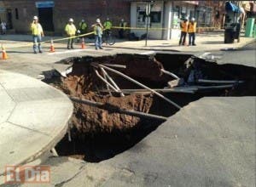
[[[49,41],[51,38],[60,39],[63,37],[44,37],[44,41]],[[187,37],[188,39],[188,37]],[[203,34],[196,34],[195,43],[196,46],[179,46],[178,38],[172,40],[148,40],[148,46],[145,47],[145,40],[142,41],[125,41],[116,39],[116,43],[113,46],[105,46],[107,48],[127,48],[127,49],[137,49],[137,50],[160,50],[160,51],[212,51],[224,48],[241,48],[249,42],[253,42],[255,38],[244,37],[244,33],[241,33],[241,40],[234,43],[224,43],[224,31],[212,31]],[[4,35],[0,37],[0,42],[4,45],[12,44],[13,41],[22,41],[32,43],[30,35]],[[66,40],[58,41],[58,43],[65,43]],[[87,45],[94,45],[94,40],[85,38],[85,43]],[[23,43],[24,44],[24,43]],[[14,46],[19,46],[20,43],[16,43]]]

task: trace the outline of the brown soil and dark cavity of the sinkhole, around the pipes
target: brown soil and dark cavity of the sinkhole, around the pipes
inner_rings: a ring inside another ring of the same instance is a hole
[[[188,60],[189,58],[192,58]],[[186,63],[185,63],[186,62]],[[120,114],[115,108],[124,108],[133,111],[142,111],[160,116],[172,116],[177,109],[150,93],[133,93],[120,97],[119,94],[109,95],[102,92],[106,89],[98,77],[92,64],[108,63],[126,65],[126,68],[113,68],[125,75],[142,82],[149,88],[165,88],[167,82],[173,78],[163,74],[160,69],[172,71],[185,82],[191,79],[191,71],[195,71],[195,80],[198,78],[212,80],[243,80],[244,83],[235,83],[232,88],[199,92],[196,94],[164,94],[178,105],[188,105],[189,102],[205,96],[245,96],[255,95],[255,68],[243,65],[218,65],[204,59],[198,59],[189,54],[155,54],[154,56],[137,54],[117,54],[105,57],[83,57],[62,60],[61,63],[71,64],[73,71],[64,77],[55,77],[45,80],[56,88],[60,88],[69,96],[80,99],[89,99],[100,102],[101,107],[94,107],[74,102],[72,118],[73,142],[67,137],[57,145],[62,156],[83,158],[86,161],[102,161],[108,159],[129,147],[137,144],[160,121],[149,120],[137,116]],[[96,68],[101,74],[102,71]],[[247,73],[245,73],[247,72]],[[110,77],[119,85],[119,88],[139,88],[136,84],[125,80],[108,71]],[[196,82],[186,86],[196,85]],[[215,84],[212,84],[214,86]],[[200,86],[207,86],[201,84]]]

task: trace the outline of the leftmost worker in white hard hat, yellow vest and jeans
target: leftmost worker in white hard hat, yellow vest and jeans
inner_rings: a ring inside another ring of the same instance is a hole
[[[41,42],[42,42],[42,37],[44,37],[44,31],[41,24],[38,23],[38,16],[36,15],[33,17],[33,22],[31,24],[31,31],[32,31],[32,37],[33,37],[34,54],[37,54],[38,52],[42,54],[43,51],[42,51]]]

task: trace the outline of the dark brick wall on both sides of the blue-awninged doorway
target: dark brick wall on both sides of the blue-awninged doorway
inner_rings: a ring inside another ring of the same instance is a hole
[[[43,1],[43,0],[38,0]],[[5,8],[11,8],[13,14],[13,25],[15,31],[26,33],[29,31],[33,15],[38,14],[36,0],[5,0]],[[95,23],[96,18],[101,18],[102,22],[107,18],[113,21],[114,26],[119,25],[119,21],[124,18],[130,24],[130,3],[125,0],[58,0],[54,1],[53,23],[55,34],[61,34],[69,18],[79,21],[84,19],[90,26]],[[19,11],[19,20],[15,19],[15,8]],[[40,18],[39,18],[40,19]]]

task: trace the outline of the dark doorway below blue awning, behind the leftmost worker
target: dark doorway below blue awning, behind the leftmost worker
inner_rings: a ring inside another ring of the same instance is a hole
[[[38,8],[38,16],[44,31],[55,31],[53,25],[53,8]]]

